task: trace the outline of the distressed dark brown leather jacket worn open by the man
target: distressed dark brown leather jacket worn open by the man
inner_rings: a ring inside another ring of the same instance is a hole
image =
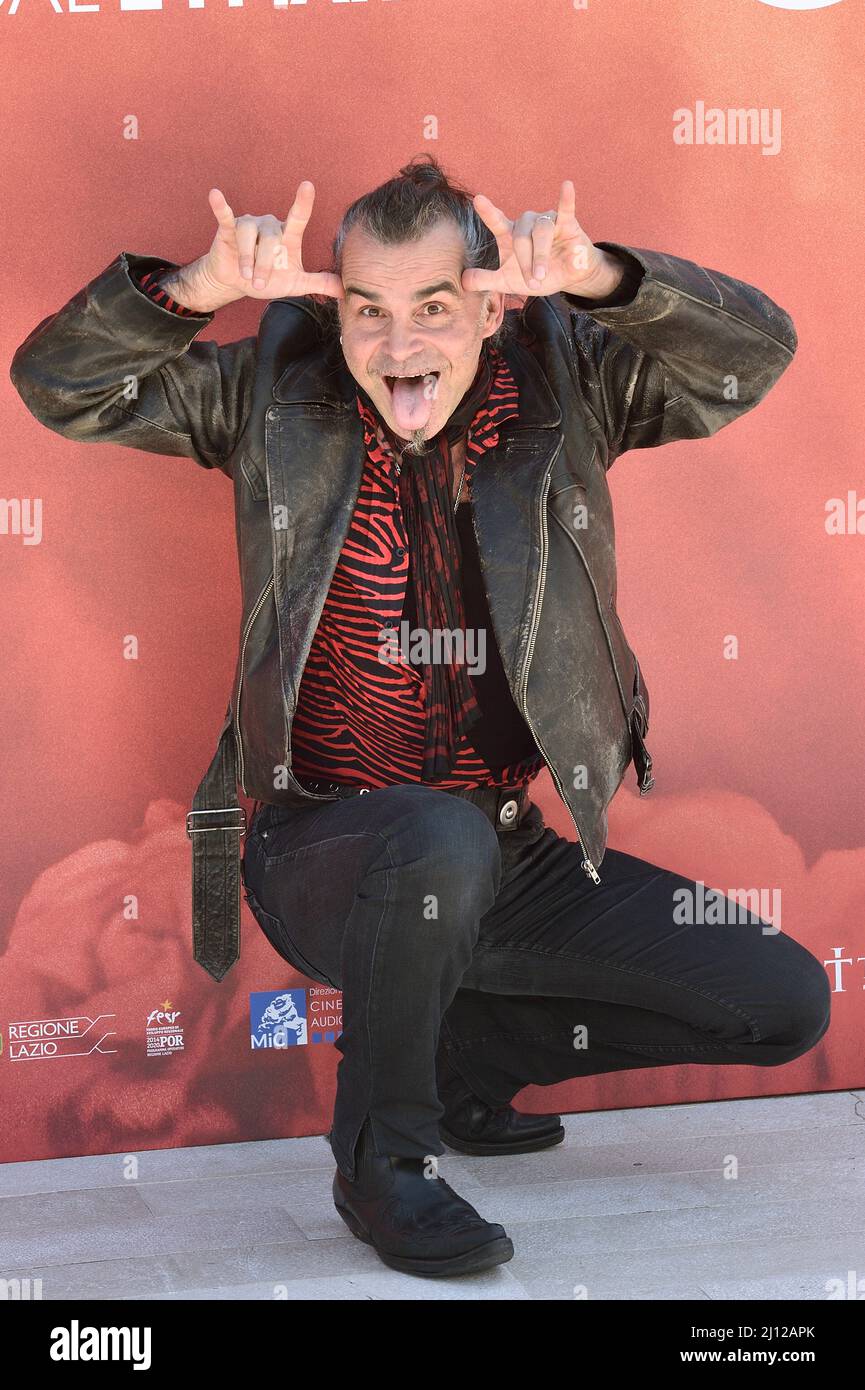
[[[663,252],[597,245],[637,265],[637,288],[613,307],[553,295],[509,310],[502,350],[519,420],[480,459],[471,502],[513,698],[599,883],[606,809],[631,762],[640,791],[652,785],[648,689],[616,613],[608,470],[629,449],[704,438],[745,414],[789,366],[797,335],[751,285]],[[70,439],[184,455],[232,480],[243,614],[220,734],[231,760],[217,777],[214,759],[210,795],[192,815],[236,802],[227,767],[254,799],[330,799],[295,781],[291,730],[360,486],[356,384],[307,297],[270,302],[257,335],[197,342],[211,313],[171,314],[131,281],[131,270],[164,264],[174,263],[121,252],[31,332],[11,379]],[[202,848],[202,894],[224,842],[223,833],[210,856]],[[195,930],[204,931],[197,919]]]

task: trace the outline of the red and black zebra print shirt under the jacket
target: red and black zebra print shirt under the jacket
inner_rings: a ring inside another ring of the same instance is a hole
[[[136,277],[136,284],[163,307],[189,313],[153,288],[159,274],[160,268],[147,271]],[[501,425],[519,413],[516,381],[495,349],[492,363],[490,396],[469,428],[463,500],[458,507],[466,627],[485,632],[485,670],[471,677],[481,719],[460,741],[451,776],[437,787],[510,785],[531,780],[544,766],[502,669],[470,502],[464,500],[478,460],[498,443]],[[380,443],[374,413],[360,396],[356,402],[367,460],[298,691],[292,771],[323,781],[387,787],[420,781],[424,687],[420,671],[402,655],[380,660],[385,631],[399,631],[403,619],[413,627],[409,542],[394,461]]]

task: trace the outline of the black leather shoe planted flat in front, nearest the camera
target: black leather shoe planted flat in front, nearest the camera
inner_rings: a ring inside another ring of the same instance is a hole
[[[356,1179],[338,1168],[334,1204],[345,1225],[406,1275],[474,1275],[513,1257],[503,1226],[484,1220],[444,1177],[424,1177],[428,1159],[375,1154],[370,1122],[357,1138]]]

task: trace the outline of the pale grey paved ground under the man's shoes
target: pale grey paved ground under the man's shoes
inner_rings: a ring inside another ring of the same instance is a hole
[[[565,1123],[545,1154],[439,1159],[513,1238],[485,1275],[387,1269],[316,1137],[142,1152],[132,1180],[128,1155],[0,1166],[0,1276],[46,1300],[825,1300],[865,1279],[865,1090]]]

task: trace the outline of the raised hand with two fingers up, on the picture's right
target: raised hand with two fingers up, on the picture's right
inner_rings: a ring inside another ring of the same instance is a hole
[[[622,263],[594,245],[576,215],[576,190],[565,179],[555,214],[523,213],[510,221],[484,193],[474,208],[495,236],[498,270],[464,270],[466,291],[505,295],[558,295],[569,291],[588,297],[609,295],[622,277]]]

